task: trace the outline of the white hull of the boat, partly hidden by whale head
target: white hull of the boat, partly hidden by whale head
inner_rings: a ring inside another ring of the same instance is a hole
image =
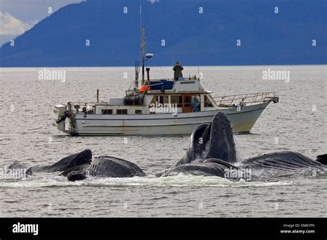
[[[217,112],[224,112],[235,132],[250,132],[269,102],[236,108],[173,114],[77,114],[72,135],[175,135],[190,134],[202,123],[209,123]]]

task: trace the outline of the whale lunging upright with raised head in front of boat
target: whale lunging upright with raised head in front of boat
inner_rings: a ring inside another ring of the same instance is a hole
[[[159,177],[185,174],[224,177],[228,170],[238,170],[232,126],[226,115],[217,112],[209,124],[195,128],[188,141],[186,154]]]

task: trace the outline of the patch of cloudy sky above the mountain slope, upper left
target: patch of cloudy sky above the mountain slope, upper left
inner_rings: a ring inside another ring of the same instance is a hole
[[[82,0],[0,0],[0,45],[32,28],[35,23],[70,3]]]

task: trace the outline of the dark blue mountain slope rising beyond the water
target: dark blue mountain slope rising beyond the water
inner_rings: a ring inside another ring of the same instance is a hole
[[[188,66],[327,63],[326,0],[157,1],[63,7],[14,39],[14,46],[4,44],[0,66],[132,66],[139,59],[140,3],[147,52],[155,54],[151,66],[177,60]]]

